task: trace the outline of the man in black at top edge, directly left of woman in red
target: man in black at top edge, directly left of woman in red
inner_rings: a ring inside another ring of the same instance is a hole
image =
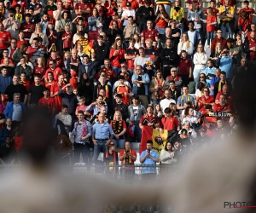
[[[139,28],[141,32],[143,32],[143,30],[147,29],[147,26],[149,26],[148,20],[151,20],[151,27],[153,27],[155,15],[154,9],[150,7],[150,0],[145,0],[145,5],[137,9],[136,16],[140,17]]]

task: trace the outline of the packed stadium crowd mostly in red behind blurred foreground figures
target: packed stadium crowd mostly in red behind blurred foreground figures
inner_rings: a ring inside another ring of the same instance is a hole
[[[174,0],[169,14],[124,0],[118,13],[110,0],[0,1],[1,164],[20,163],[22,121],[35,108],[53,117],[62,163],[82,153],[95,164],[102,152],[106,164],[129,167],[144,126],[168,130],[170,142],[158,156],[148,141],[143,164],[173,164],[189,144],[235,134],[232,83],[256,66],[255,11],[236,0],[186,6]]]

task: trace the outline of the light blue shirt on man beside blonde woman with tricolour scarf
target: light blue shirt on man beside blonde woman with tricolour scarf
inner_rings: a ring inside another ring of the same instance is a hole
[[[92,133],[95,139],[107,139],[109,135],[113,135],[112,127],[105,122],[104,124],[96,123],[92,126]]]

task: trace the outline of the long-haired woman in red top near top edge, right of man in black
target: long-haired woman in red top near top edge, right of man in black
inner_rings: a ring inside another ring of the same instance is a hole
[[[156,12],[155,21],[155,29],[158,31],[160,36],[165,35],[166,26],[169,22],[169,14],[166,13],[165,6],[163,4],[159,4],[157,12]]]

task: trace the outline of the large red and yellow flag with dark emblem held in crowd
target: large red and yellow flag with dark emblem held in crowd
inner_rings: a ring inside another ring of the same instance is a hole
[[[159,130],[154,130],[149,126],[143,126],[140,153],[147,149],[147,141],[151,140],[153,141],[153,150],[158,153],[160,158],[161,150],[166,146],[167,137],[167,130],[164,130],[161,134]]]

